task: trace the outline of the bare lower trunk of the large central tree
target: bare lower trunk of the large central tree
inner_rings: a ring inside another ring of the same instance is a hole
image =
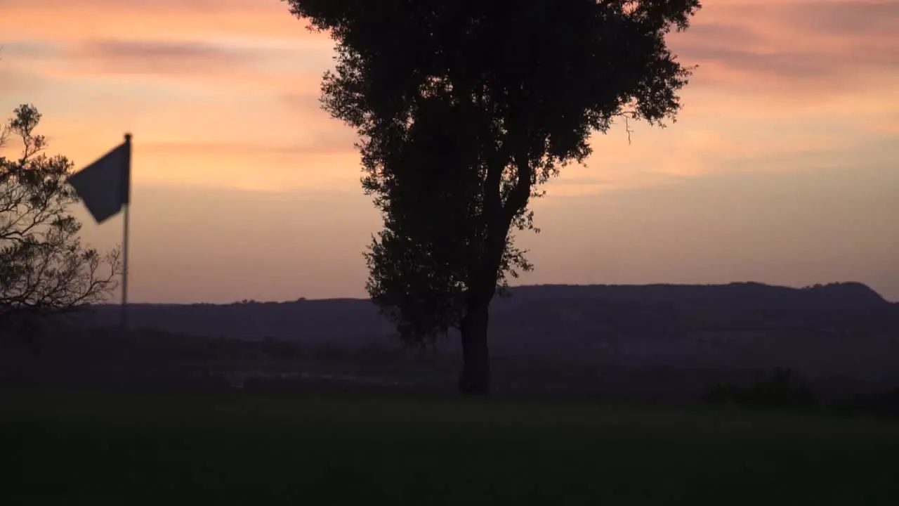
[[[490,393],[490,351],[487,347],[487,321],[490,297],[470,297],[460,325],[462,333],[462,374],[458,390],[468,395]]]

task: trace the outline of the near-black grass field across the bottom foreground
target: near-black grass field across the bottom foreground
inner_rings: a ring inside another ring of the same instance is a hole
[[[899,427],[876,420],[386,395],[0,395],[0,504],[899,504]]]

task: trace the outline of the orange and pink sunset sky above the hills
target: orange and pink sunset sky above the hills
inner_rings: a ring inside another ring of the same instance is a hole
[[[703,3],[672,36],[699,64],[679,122],[597,136],[547,186],[521,282],[855,280],[899,300],[899,2]],[[134,134],[132,300],[364,295],[379,222],[352,131],[317,108],[333,45],[286,4],[0,14],[0,111],[37,105],[79,167]],[[98,246],[120,233],[85,224]]]

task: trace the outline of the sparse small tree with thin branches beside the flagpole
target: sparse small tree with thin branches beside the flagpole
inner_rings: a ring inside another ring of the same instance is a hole
[[[35,317],[102,302],[121,273],[119,248],[82,245],[81,223],[69,212],[79,202],[66,182],[72,163],[43,153],[39,122],[38,110],[22,105],[2,136],[6,144],[20,140],[22,152],[0,157],[0,331],[33,330]]]

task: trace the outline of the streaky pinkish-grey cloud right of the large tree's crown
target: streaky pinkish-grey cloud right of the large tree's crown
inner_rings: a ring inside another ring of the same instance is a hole
[[[771,93],[828,94],[899,71],[899,3],[708,2],[673,38],[697,80]]]

